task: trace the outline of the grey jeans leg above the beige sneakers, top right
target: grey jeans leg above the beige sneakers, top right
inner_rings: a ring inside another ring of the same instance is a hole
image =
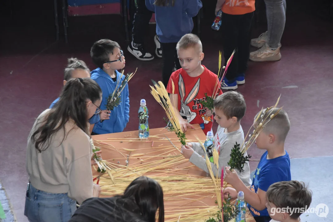
[[[286,23],[286,0],[264,0],[267,16],[268,45],[277,49]]]

